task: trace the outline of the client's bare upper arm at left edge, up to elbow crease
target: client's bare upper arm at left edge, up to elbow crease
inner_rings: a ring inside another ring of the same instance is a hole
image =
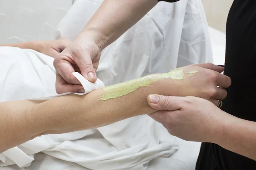
[[[41,101],[0,102],[0,153],[41,133],[42,127],[30,117],[30,110],[38,102]]]

